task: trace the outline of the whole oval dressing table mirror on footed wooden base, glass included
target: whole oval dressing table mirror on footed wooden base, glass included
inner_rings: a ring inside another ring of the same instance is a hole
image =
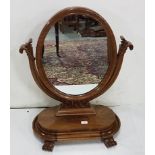
[[[82,7],[55,14],[42,29],[33,54],[32,39],[20,47],[28,55],[32,76],[51,98],[60,101],[40,112],[33,121],[43,149],[57,141],[100,138],[106,147],[116,145],[120,119],[108,107],[92,105],[116,80],[124,54],[133,45],[121,36],[118,48],[106,20]]]

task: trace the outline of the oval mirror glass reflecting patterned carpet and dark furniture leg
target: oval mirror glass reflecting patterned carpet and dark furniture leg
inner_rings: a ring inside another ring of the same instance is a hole
[[[42,64],[50,83],[60,91],[79,95],[92,90],[108,69],[103,27],[86,15],[65,16],[46,35]]]

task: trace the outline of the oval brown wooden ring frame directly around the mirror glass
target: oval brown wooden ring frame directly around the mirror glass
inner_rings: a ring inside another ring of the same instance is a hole
[[[106,74],[104,75],[104,78],[98,84],[97,87],[95,87],[94,89],[92,89],[91,91],[89,91],[87,93],[80,94],[80,95],[70,95],[70,94],[63,93],[63,92],[59,91],[58,89],[56,89],[49,82],[49,80],[45,74],[43,65],[42,65],[42,55],[43,55],[42,49],[43,49],[44,40],[45,40],[47,33],[49,32],[51,27],[54,26],[54,24],[56,22],[61,20],[63,17],[65,17],[67,15],[71,15],[71,14],[87,15],[87,16],[99,21],[99,23],[104,28],[106,35],[107,35],[107,46],[108,46],[107,49],[108,49],[108,63],[109,63],[108,70],[107,70]],[[96,98],[97,96],[101,95],[105,91],[106,85],[108,84],[108,82],[114,72],[114,69],[116,66],[116,59],[117,59],[116,42],[115,42],[115,37],[113,35],[113,32],[112,32],[109,24],[105,21],[105,19],[103,17],[101,17],[96,12],[94,12],[90,9],[81,8],[81,7],[67,8],[67,9],[64,9],[64,10],[58,12],[56,15],[54,15],[47,22],[47,24],[44,26],[43,30],[41,31],[41,34],[39,36],[38,43],[37,43],[37,48],[36,48],[36,65],[37,65],[37,68],[39,68],[38,74],[40,76],[41,81],[44,83],[46,88],[49,90],[49,92],[53,98],[55,98],[61,102],[67,102],[67,103],[88,102],[88,101]]]

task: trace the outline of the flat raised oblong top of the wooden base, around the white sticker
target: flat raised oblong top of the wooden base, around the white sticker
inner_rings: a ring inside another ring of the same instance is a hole
[[[91,116],[55,117],[58,107],[47,108],[38,116],[38,123],[48,131],[64,132],[84,130],[104,130],[115,121],[115,114],[104,106],[94,106],[96,114]],[[46,121],[45,121],[46,120]],[[57,123],[57,121],[59,123]],[[87,125],[81,125],[87,121]]]

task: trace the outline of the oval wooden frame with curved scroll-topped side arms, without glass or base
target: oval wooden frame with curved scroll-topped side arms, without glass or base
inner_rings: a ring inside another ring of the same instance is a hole
[[[43,48],[45,36],[48,33],[50,27],[53,24],[55,24],[55,22],[57,22],[59,19],[62,19],[65,15],[72,14],[72,13],[79,13],[79,12],[81,12],[81,14],[83,13],[91,16],[92,18],[95,18],[104,27],[104,30],[106,31],[106,34],[108,37],[109,67],[102,81],[93,90],[81,95],[70,95],[70,94],[65,94],[59,91],[58,89],[56,89],[46,77],[46,74],[43,69],[42,61],[41,61],[42,52],[43,52],[42,48]],[[101,17],[100,15],[98,15],[92,10],[81,8],[81,7],[75,7],[75,8],[68,8],[60,11],[48,21],[48,23],[43,28],[40,34],[40,37],[38,39],[37,48],[36,48],[36,58],[33,55],[32,40],[21,46],[20,53],[23,53],[23,51],[26,51],[29,58],[30,68],[31,68],[31,72],[34,77],[34,80],[47,95],[49,95],[50,97],[56,100],[61,101],[64,104],[65,103],[72,104],[74,102],[87,103],[92,99],[103,94],[115,82],[119,74],[119,71],[121,69],[124,54],[127,48],[129,47],[131,50],[133,49],[133,45],[129,41],[127,41],[123,37],[121,37],[121,40],[122,41],[117,53],[115,37],[113,35],[113,32],[110,26],[103,19],[103,17]]]

